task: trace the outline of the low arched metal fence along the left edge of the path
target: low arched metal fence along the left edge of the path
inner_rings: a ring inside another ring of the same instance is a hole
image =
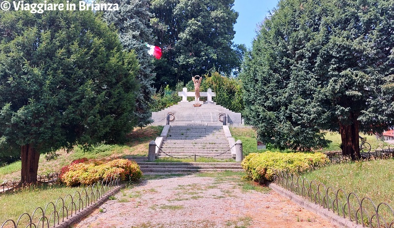
[[[49,178],[51,179],[51,178]],[[7,220],[0,228],[57,228],[62,223],[96,203],[120,185],[119,177],[102,180],[76,191],[73,195],[59,197],[44,208],[37,207],[32,214],[24,213],[17,221]]]

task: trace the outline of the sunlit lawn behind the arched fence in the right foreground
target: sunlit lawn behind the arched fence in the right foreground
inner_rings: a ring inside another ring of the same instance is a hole
[[[394,205],[393,167],[393,159],[361,161],[354,163],[345,162],[323,167],[319,170],[304,174],[302,177],[305,177],[310,181],[316,180],[317,184],[321,182],[325,184],[326,187],[332,187],[332,189],[328,191],[328,195],[331,197],[331,200],[335,199],[337,191],[342,189],[345,194],[341,191],[338,192],[339,205],[341,206],[344,206],[349,199],[350,205],[357,209],[359,207],[359,201],[354,194],[358,196],[359,200],[362,200],[363,198],[370,198],[374,204],[369,200],[363,200],[362,202],[362,208],[364,210],[364,225],[369,227],[368,217],[365,214],[373,216],[376,206],[383,202],[390,206]],[[316,187],[313,189],[316,191]],[[326,194],[325,190],[321,191],[321,193]],[[332,209],[332,204],[330,205]],[[348,211],[346,209],[346,217],[348,217],[347,213]],[[342,216],[342,212],[340,212],[340,215]],[[390,211],[388,206],[382,205],[380,207],[379,216],[381,222],[384,220],[388,222],[394,221],[393,213]],[[360,217],[359,223],[361,223]],[[372,221],[372,227],[377,227],[376,217],[375,220]]]

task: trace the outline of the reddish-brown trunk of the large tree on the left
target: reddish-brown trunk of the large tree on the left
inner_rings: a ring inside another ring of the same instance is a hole
[[[31,144],[21,147],[21,184],[37,183],[38,161],[40,153]]]

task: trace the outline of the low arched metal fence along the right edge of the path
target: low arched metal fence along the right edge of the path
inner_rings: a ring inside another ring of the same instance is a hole
[[[274,183],[362,227],[394,228],[394,210],[385,202],[376,204],[369,197],[361,198],[356,193],[286,172],[276,172]]]

